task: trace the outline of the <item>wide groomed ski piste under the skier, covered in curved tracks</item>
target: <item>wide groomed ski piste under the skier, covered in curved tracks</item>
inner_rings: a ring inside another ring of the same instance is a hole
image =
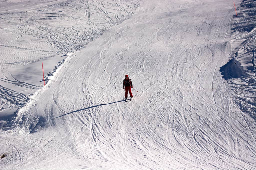
[[[143,1],[17,113],[1,169],[255,169],[255,121],[220,73],[233,14],[228,1]]]

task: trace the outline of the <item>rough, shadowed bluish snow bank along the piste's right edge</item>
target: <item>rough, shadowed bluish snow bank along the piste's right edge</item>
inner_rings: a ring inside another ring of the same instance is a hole
[[[237,10],[238,17],[234,15],[232,23],[232,59],[222,66],[221,71],[230,83],[235,103],[256,121],[256,3],[245,0]]]

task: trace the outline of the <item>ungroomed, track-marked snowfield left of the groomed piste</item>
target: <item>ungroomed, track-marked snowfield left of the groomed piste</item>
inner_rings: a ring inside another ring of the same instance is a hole
[[[138,5],[122,0],[0,1],[1,114],[23,107],[44,85],[42,62],[48,83],[68,55],[129,18]]]

